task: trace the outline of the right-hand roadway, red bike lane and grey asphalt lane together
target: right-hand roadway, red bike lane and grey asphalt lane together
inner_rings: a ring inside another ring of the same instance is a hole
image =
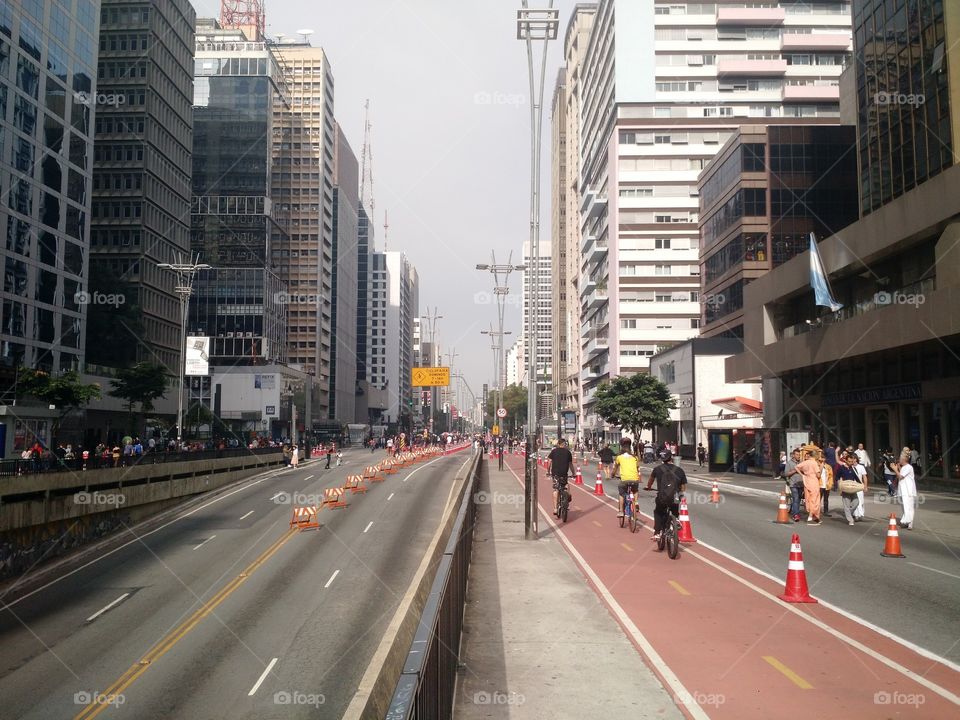
[[[520,460],[508,458],[518,483]],[[642,467],[645,482],[652,466]],[[546,508],[550,484],[542,469],[539,475]],[[691,698],[696,702],[687,705],[705,713],[695,717],[939,718],[957,712],[955,538],[902,531],[907,557],[884,558],[886,522],[876,515],[855,527],[836,514],[819,527],[777,525],[775,500],[724,488],[714,505],[708,488],[691,484],[698,542],[682,546],[670,561],[649,539],[653,493],[641,491],[645,523],[631,534],[618,525],[615,481],[596,496],[594,479],[595,471],[574,486],[569,521],[558,529],[551,515],[541,536],[561,536],[638,650],[647,655],[649,643],[675,673],[675,696]],[[776,599],[794,532],[816,605]],[[669,684],[662,668],[654,670]]]

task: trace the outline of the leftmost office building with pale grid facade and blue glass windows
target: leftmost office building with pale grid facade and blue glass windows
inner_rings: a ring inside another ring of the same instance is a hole
[[[84,360],[99,20],[97,3],[0,3],[0,373],[11,389],[20,366]],[[49,442],[55,413],[16,410],[0,449]]]

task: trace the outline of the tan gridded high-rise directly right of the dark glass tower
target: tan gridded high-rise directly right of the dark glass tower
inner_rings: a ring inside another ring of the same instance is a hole
[[[274,257],[287,282],[291,365],[315,375],[320,417],[330,416],[333,326],[333,186],[336,125],[333,73],[322,48],[284,38],[273,45],[283,68],[290,110],[277,109],[275,154],[289,153],[274,176],[289,233]]]

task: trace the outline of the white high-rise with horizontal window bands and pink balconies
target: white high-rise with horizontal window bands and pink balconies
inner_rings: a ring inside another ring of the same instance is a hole
[[[583,425],[598,385],[697,335],[697,176],[733,130],[836,123],[850,6],[603,0],[583,69]],[[774,119],[777,118],[777,119]]]

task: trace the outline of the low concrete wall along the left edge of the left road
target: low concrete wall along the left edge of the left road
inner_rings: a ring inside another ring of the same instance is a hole
[[[0,579],[282,463],[278,452],[2,478]]]

